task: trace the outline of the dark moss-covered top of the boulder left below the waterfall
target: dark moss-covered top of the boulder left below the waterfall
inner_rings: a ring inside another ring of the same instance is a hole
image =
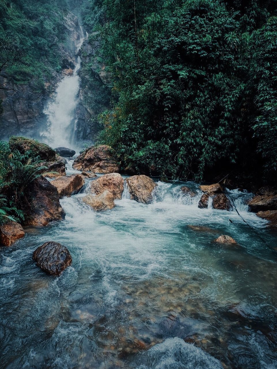
[[[35,156],[40,156],[41,160],[47,162],[55,161],[56,151],[46,144],[41,144],[37,140],[25,137],[11,136],[8,142],[11,150],[18,150],[21,154],[32,151]]]

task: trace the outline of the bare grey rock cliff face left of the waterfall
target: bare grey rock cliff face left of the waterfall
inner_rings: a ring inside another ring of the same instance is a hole
[[[21,83],[9,77],[5,71],[0,75],[0,99],[3,100],[4,114],[0,115],[0,138],[10,135],[38,137],[46,120],[43,113],[45,104],[55,91],[56,84],[63,75],[70,73],[76,62],[76,44],[80,40],[80,26],[72,13],[64,16],[66,43],[56,38],[53,45],[58,46],[58,57],[61,70],[57,72],[51,66],[51,75],[44,75],[44,86],[37,84],[35,79]],[[47,64],[47,61],[45,61]]]

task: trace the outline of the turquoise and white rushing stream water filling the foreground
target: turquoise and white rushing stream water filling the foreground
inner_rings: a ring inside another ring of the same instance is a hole
[[[95,213],[82,203],[89,183],[60,201],[65,221],[0,249],[0,368],[277,368],[277,254],[235,211],[198,209],[200,192],[158,182],[153,204],[125,188]],[[275,247],[277,232],[247,212],[250,195],[231,196]],[[239,246],[213,244],[221,234]],[[32,261],[50,240],[73,258],[60,277]]]

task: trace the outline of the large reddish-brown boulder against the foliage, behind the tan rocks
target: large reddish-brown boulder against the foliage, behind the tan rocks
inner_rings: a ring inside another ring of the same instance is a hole
[[[91,146],[80,154],[73,163],[76,170],[100,174],[119,172],[117,157],[110,146]]]

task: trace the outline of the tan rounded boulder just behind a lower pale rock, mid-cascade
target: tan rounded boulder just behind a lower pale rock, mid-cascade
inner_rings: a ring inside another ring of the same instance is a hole
[[[100,194],[108,190],[114,199],[121,199],[123,193],[123,178],[119,173],[105,174],[91,183],[91,193]]]

